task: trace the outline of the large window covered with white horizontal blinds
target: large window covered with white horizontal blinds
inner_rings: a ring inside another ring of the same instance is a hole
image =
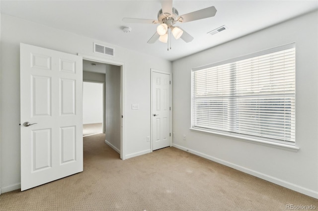
[[[192,69],[193,129],[295,143],[295,44]]]

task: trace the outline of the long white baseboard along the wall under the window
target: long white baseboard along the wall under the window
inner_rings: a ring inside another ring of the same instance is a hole
[[[234,164],[234,163],[232,163],[232,162],[228,162],[228,161],[225,161],[225,160],[222,160],[222,159],[219,159],[219,158],[215,158],[215,157],[212,157],[212,156],[209,156],[209,155],[206,155],[206,154],[197,152],[197,151],[195,151],[195,150],[191,150],[191,149],[182,147],[182,146],[177,145],[177,144],[172,144],[172,146],[175,147],[175,148],[178,148],[178,149],[180,149],[180,150],[187,151],[187,152],[192,153],[192,154],[194,154],[194,155],[200,156],[200,157],[202,157],[202,158],[206,158],[206,159],[209,159],[209,160],[212,160],[212,161],[221,163],[221,164],[223,164],[223,165],[226,165],[226,166],[229,166],[229,167],[231,167],[231,168],[237,169],[237,170],[242,171],[242,172],[244,172],[244,173],[253,175],[253,176],[255,176],[255,177],[264,179],[264,180],[269,181],[269,182],[272,182],[272,183],[274,183],[274,184],[283,186],[283,187],[288,188],[288,189],[291,189],[291,190],[293,190],[293,191],[297,191],[297,192],[299,192],[299,193],[302,193],[302,194],[305,194],[305,195],[307,195],[307,196],[310,196],[310,197],[313,197],[313,198],[318,199],[318,191],[310,190],[310,189],[308,189],[308,188],[301,187],[301,186],[299,186],[299,185],[296,185],[296,184],[293,184],[293,183],[290,183],[290,182],[281,180],[281,179],[279,179],[279,178],[272,177],[272,176],[269,176],[269,175],[267,175],[267,174],[263,174],[263,173],[258,172],[258,171],[254,171],[254,170],[252,170],[252,169],[245,168],[245,167],[243,167],[243,166]]]

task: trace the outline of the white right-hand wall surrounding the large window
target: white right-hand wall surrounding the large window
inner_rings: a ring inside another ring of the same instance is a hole
[[[304,30],[297,30],[301,26]],[[222,36],[222,33],[214,35]],[[298,152],[189,130],[191,68],[296,43]],[[173,146],[318,198],[318,12],[173,62]],[[187,140],[182,140],[182,135]]]

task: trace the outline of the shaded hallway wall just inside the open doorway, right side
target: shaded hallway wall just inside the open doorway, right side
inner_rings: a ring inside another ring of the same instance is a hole
[[[106,68],[106,143],[120,152],[121,131],[121,67]],[[129,107],[128,107],[129,108]]]

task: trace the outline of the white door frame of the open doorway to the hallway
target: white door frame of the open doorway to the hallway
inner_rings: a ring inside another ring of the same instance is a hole
[[[79,56],[83,58],[83,60],[88,60],[88,61],[94,61],[94,62],[99,62],[99,63],[105,63],[105,64],[112,64],[116,66],[120,66],[120,76],[121,76],[121,102],[120,102],[120,109],[121,109],[121,115],[122,115],[122,126],[121,126],[121,134],[120,134],[120,158],[121,159],[126,159],[126,140],[125,140],[125,125],[126,125],[126,120],[125,120],[125,63],[120,62],[120,61],[114,61],[110,60],[107,58],[101,58],[97,56],[92,56],[92,55],[86,55],[82,53],[78,53]]]

